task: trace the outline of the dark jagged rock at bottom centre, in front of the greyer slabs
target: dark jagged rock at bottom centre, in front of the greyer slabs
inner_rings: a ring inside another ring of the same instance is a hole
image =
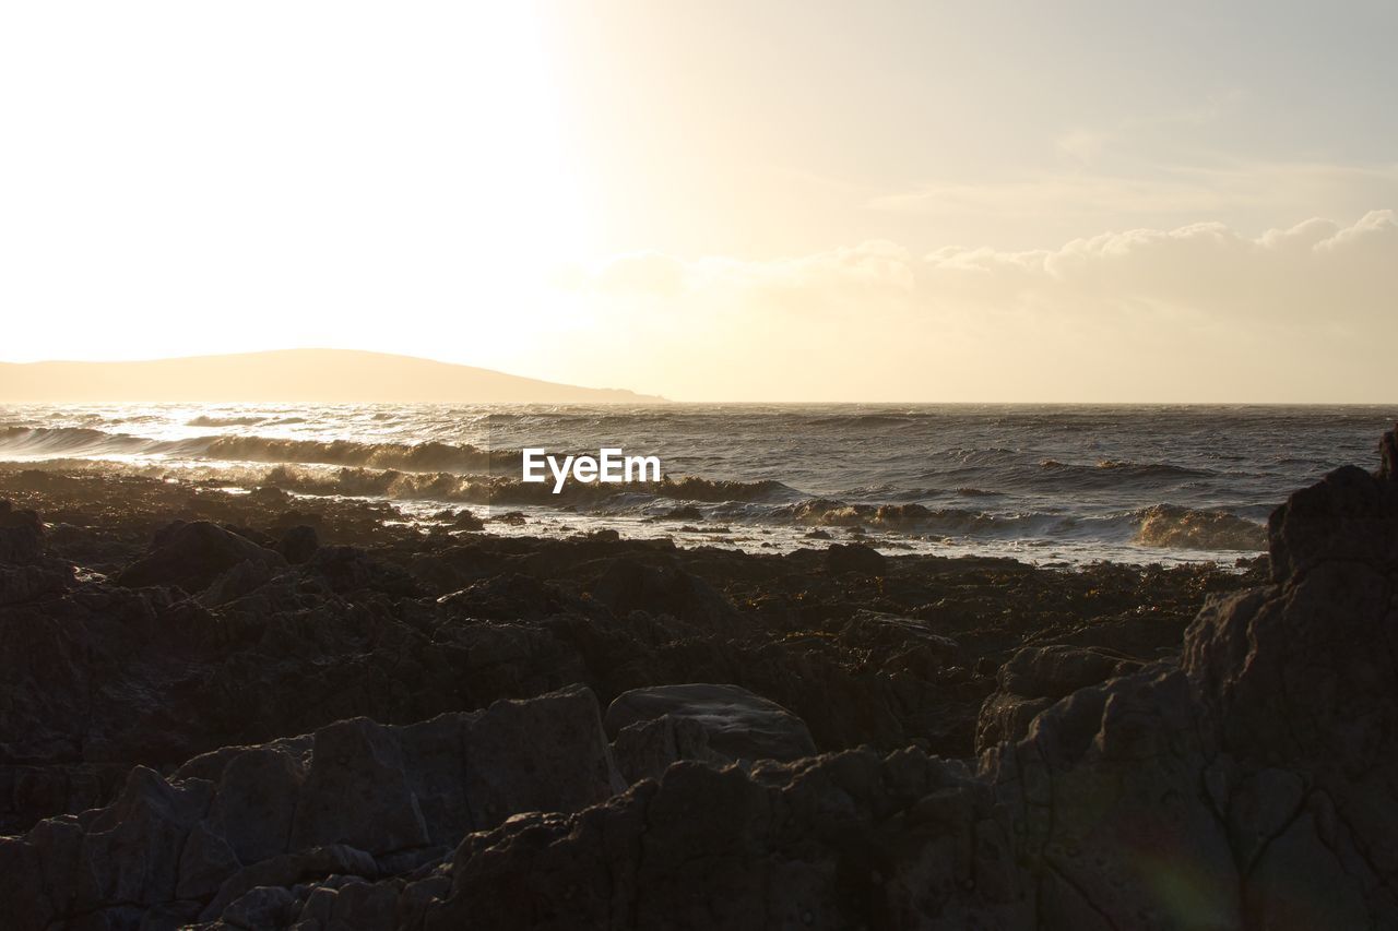
[[[1012,837],[987,786],[916,751],[678,763],[580,815],[471,835],[422,927],[1026,927]]]

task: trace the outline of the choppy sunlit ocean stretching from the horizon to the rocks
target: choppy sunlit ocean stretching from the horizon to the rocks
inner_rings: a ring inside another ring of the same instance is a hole
[[[1373,468],[1398,407],[99,404],[0,407],[0,461],[461,507],[489,533],[1233,563],[1268,513]],[[524,447],[658,456],[658,486],[523,484]]]

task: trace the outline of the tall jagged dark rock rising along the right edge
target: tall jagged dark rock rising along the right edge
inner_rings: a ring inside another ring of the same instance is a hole
[[[1279,583],[1208,605],[1179,668],[1081,689],[987,753],[1046,925],[1398,921],[1390,475],[1293,495],[1271,521]]]

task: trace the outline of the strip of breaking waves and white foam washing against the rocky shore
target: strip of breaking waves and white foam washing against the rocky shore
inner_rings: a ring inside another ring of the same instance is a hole
[[[431,446],[431,445],[429,445]],[[1141,503],[1102,514],[983,510],[987,496],[960,489],[958,500],[868,502],[807,495],[774,481],[665,478],[615,489],[570,485],[555,496],[500,474],[365,468],[333,464],[210,461],[206,464],[103,457],[0,460],[0,470],[57,475],[137,477],[229,493],[281,491],[319,507],[324,500],[387,505],[428,530],[452,526],[463,509],[505,535],[566,538],[598,530],[628,538],[674,538],[681,547],[790,552],[825,541],[857,542],[886,555],[1008,558],[1081,568],[1215,563],[1246,568],[1265,551],[1265,527],[1225,510]],[[776,500],[768,492],[776,489]],[[521,492],[528,493],[521,493]],[[1149,499],[1146,499],[1149,500]],[[1254,509],[1255,510],[1255,509]],[[443,517],[445,516],[445,517]]]

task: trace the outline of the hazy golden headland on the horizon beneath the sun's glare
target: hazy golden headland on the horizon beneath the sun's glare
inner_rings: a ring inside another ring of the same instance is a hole
[[[643,404],[663,400],[356,349],[278,349],[147,362],[0,362],[0,401]]]

